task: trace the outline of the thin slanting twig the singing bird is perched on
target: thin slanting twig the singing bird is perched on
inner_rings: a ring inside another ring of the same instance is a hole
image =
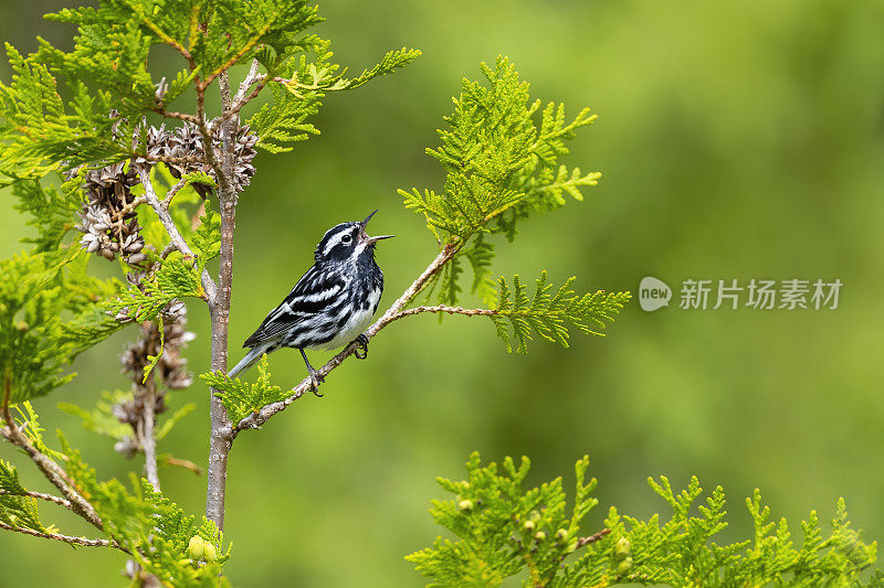
[[[409,286],[408,289],[406,289],[406,291],[402,292],[402,296],[400,296],[392,304],[390,304],[390,308],[387,309],[387,312],[385,312],[383,316],[375,322],[375,324],[369,327],[369,329],[365,332],[365,335],[367,338],[372,338],[376,334],[378,334],[381,329],[383,329],[394,320],[400,319],[407,314],[413,314],[414,312],[403,311],[402,309],[415,296],[418,296],[418,293],[427,286],[430,278],[432,278],[436,272],[439,272],[439,270],[441,270],[442,267],[448,261],[450,261],[452,257],[454,257],[454,255],[457,253],[460,247],[455,245],[445,246],[445,248],[443,248],[442,252],[439,253],[435,259],[433,259],[433,261],[429,266],[427,266],[427,269],[423,271],[423,274],[421,274],[418,277],[418,279],[415,279],[411,284],[411,286]],[[423,308],[432,309],[433,307],[423,307]],[[452,311],[453,310],[454,308],[452,308]],[[430,312],[430,310],[425,310],[425,312]],[[332,357],[332,360],[329,360],[328,363],[326,363],[318,370],[320,379],[326,375],[328,375],[328,373],[332,372],[332,370],[344,363],[344,360],[352,355],[352,353],[357,349],[359,349],[359,345],[357,343],[355,342],[350,343],[349,345],[344,348],[344,351]],[[236,434],[239,434],[239,431],[243,429],[250,429],[250,428],[255,429],[261,427],[262,425],[264,425],[264,423],[270,420],[270,418],[273,417],[273,415],[285,410],[285,408],[287,408],[288,405],[291,405],[292,403],[297,400],[301,396],[303,396],[308,389],[311,389],[312,386],[313,382],[311,381],[311,378],[309,377],[304,378],[297,386],[295,386],[292,389],[291,396],[288,396],[286,399],[269,404],[263,408],[261,408],[259,411],[252,413],[251,415],[244,417],[242,420],[236,423],[235,427],[223,431],[224,435],[229,435],[231,438],[233,438],[236,436]]]

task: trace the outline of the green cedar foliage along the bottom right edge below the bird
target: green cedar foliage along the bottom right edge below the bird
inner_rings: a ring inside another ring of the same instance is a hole
[[[831,531],[823,535],[815,512],[801,523],[794,541],[785,520],[769,522],[758,490],[746,500],[755,536],[719,545],[712,538],[727,526],[720,487],[697,503],[696,478],[674,493],[669,480],[649,479],[651,489],[672,509],[662,522],[621,515],[611,507],[607,533],[581,536],[581,523],[598,504],[587,482],[588,458],[577,462],[570,507],[561,478],[523,490],[529,462],[511,458],[482,466],[478,453],[466,462],[467,478],[440,478],[453,500],[433,501],[430,513],[456,539],[435,539],[407,559],[431,579],[429,586],[501,586],[520,578],[523,586],[556,588],[640,584],[675,587],[735,586],[881,586],[884,575],[870,571],[877,545],[865,544],[850,526],[839,500]],[[601,525],[599,522],[597,525]],[[586,525],[583,525],[586,526]],[[598,531],[598,528],[596,530]]]

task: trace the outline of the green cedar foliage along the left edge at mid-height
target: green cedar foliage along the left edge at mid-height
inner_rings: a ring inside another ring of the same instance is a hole
[[[90,276],[85,252],[62,243],[78,196],[36,180],[19,181],[12,194],[36,231],[24,239],[31,250],[0,260],[0,376],[14,404],[69,382],[65,366],[122,328],[102,307],[122,284]]]

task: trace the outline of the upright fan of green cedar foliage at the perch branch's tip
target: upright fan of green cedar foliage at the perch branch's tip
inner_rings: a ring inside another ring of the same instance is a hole
[[[445,171],[443,192],[400,191],[406,206],[422,213],[448,243],[465,243],[476,233],[504,233],[512,240],[517,221],[565,205],[565,194],[582,200],[580,188],[601,175],[558,164],[568,153],[565,141],[594,121],[588,108],[570,122],[565,105],[541,109],[506,57],[494,68],[483,63],[482,74],[487,86],[463,81],[448,128],[439,131],[442,145],[427,150]]]

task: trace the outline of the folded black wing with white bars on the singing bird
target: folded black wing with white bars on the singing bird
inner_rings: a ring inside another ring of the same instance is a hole
[[[337,272],[320,271],[313,266],[298,280],[288,296],[273,309],[261,327],[245,340],[244,348],[254,348],[275,339],[341,300],[346,282]]]

